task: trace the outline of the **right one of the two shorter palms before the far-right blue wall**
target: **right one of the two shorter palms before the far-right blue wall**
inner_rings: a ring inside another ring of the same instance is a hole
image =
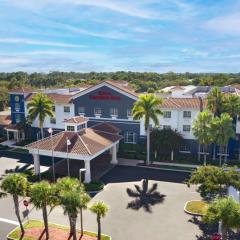
[[[222,113],[220,117],[215,117],[210,123],[211,135],[220,146],[219,164],[222,164],[222,152],[225,147],[225,162],[227,160],[227,144],[230,138],[234,137],[232,118],[228,113]]]

